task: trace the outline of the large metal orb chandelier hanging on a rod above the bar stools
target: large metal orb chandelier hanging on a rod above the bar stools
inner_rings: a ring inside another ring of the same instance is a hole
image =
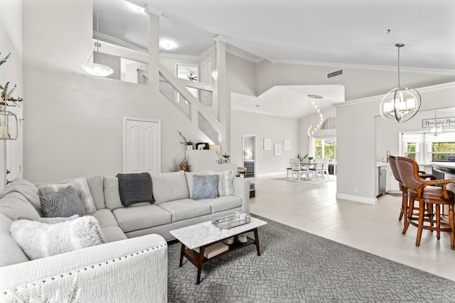
[[[411,87],[400,86],[400,48],[405,46],[397,43],[398,48],[398,87],[382,98],[380,112],[388,122],[400,123],[410,120],[420,108],[420,94]]]

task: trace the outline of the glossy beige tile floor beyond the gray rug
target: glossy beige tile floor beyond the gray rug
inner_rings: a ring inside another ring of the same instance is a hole
[[[336,199],[336,181],[303,184],[272,179],[276,177],[286,176],[250,178],[256,184],[252,214],[455,280],[449,233],[437,241],[434,233],[423,231],[416,247],[417,228],[410,226],[402,235],[401,197],[385,194],[375,205],[350,202]]]

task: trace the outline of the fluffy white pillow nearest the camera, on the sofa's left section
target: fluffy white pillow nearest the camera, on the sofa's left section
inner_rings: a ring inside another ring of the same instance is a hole
[[[11,224],[10,231],[30,260],[106,242],[94,216],[82,216],[58,224],[18,220]]]

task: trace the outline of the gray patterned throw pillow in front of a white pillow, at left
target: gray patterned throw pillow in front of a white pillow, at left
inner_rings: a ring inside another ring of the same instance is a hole
[[[61,192],[40,196],[40,201],[45,217],[85,216],[85,208],[71,185]]]

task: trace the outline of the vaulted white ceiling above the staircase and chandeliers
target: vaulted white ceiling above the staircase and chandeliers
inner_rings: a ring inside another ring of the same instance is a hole
[[[100,33],[142,49],[148,16],[131,4],[161,13],[160,40],[178,45],[163,54],[199,57],[220,35],[253,61],[396,69],[404,43],[403,68],[455,75],[454,0],[99,1]]]

